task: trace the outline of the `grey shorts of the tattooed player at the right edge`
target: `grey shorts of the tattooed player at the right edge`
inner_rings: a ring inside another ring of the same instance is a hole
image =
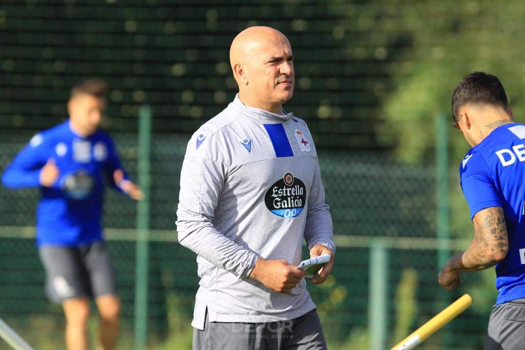
[[[525,348],[525,299],[494,305],[484,350]]]

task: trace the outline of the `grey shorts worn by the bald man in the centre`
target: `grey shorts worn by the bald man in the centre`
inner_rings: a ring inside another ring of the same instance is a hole
[[[209,322],[193,328],[193,350],[325,350],[327,343],[316,309],[288,321]]]

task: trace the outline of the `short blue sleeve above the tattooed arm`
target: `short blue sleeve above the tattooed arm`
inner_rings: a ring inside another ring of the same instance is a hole
[[[467,199],[472,219],[478,211],[489,207],[501,207],[502,204],[482,156],[467,155],[465,160],[460,167],[461,189]]]

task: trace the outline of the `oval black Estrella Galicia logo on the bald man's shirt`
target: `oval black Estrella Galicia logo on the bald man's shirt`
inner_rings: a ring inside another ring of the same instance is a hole
[[[306,186],[292,173],[286,173],[266,190],[264,201],[272,214],[295,218],[306,204]]]

